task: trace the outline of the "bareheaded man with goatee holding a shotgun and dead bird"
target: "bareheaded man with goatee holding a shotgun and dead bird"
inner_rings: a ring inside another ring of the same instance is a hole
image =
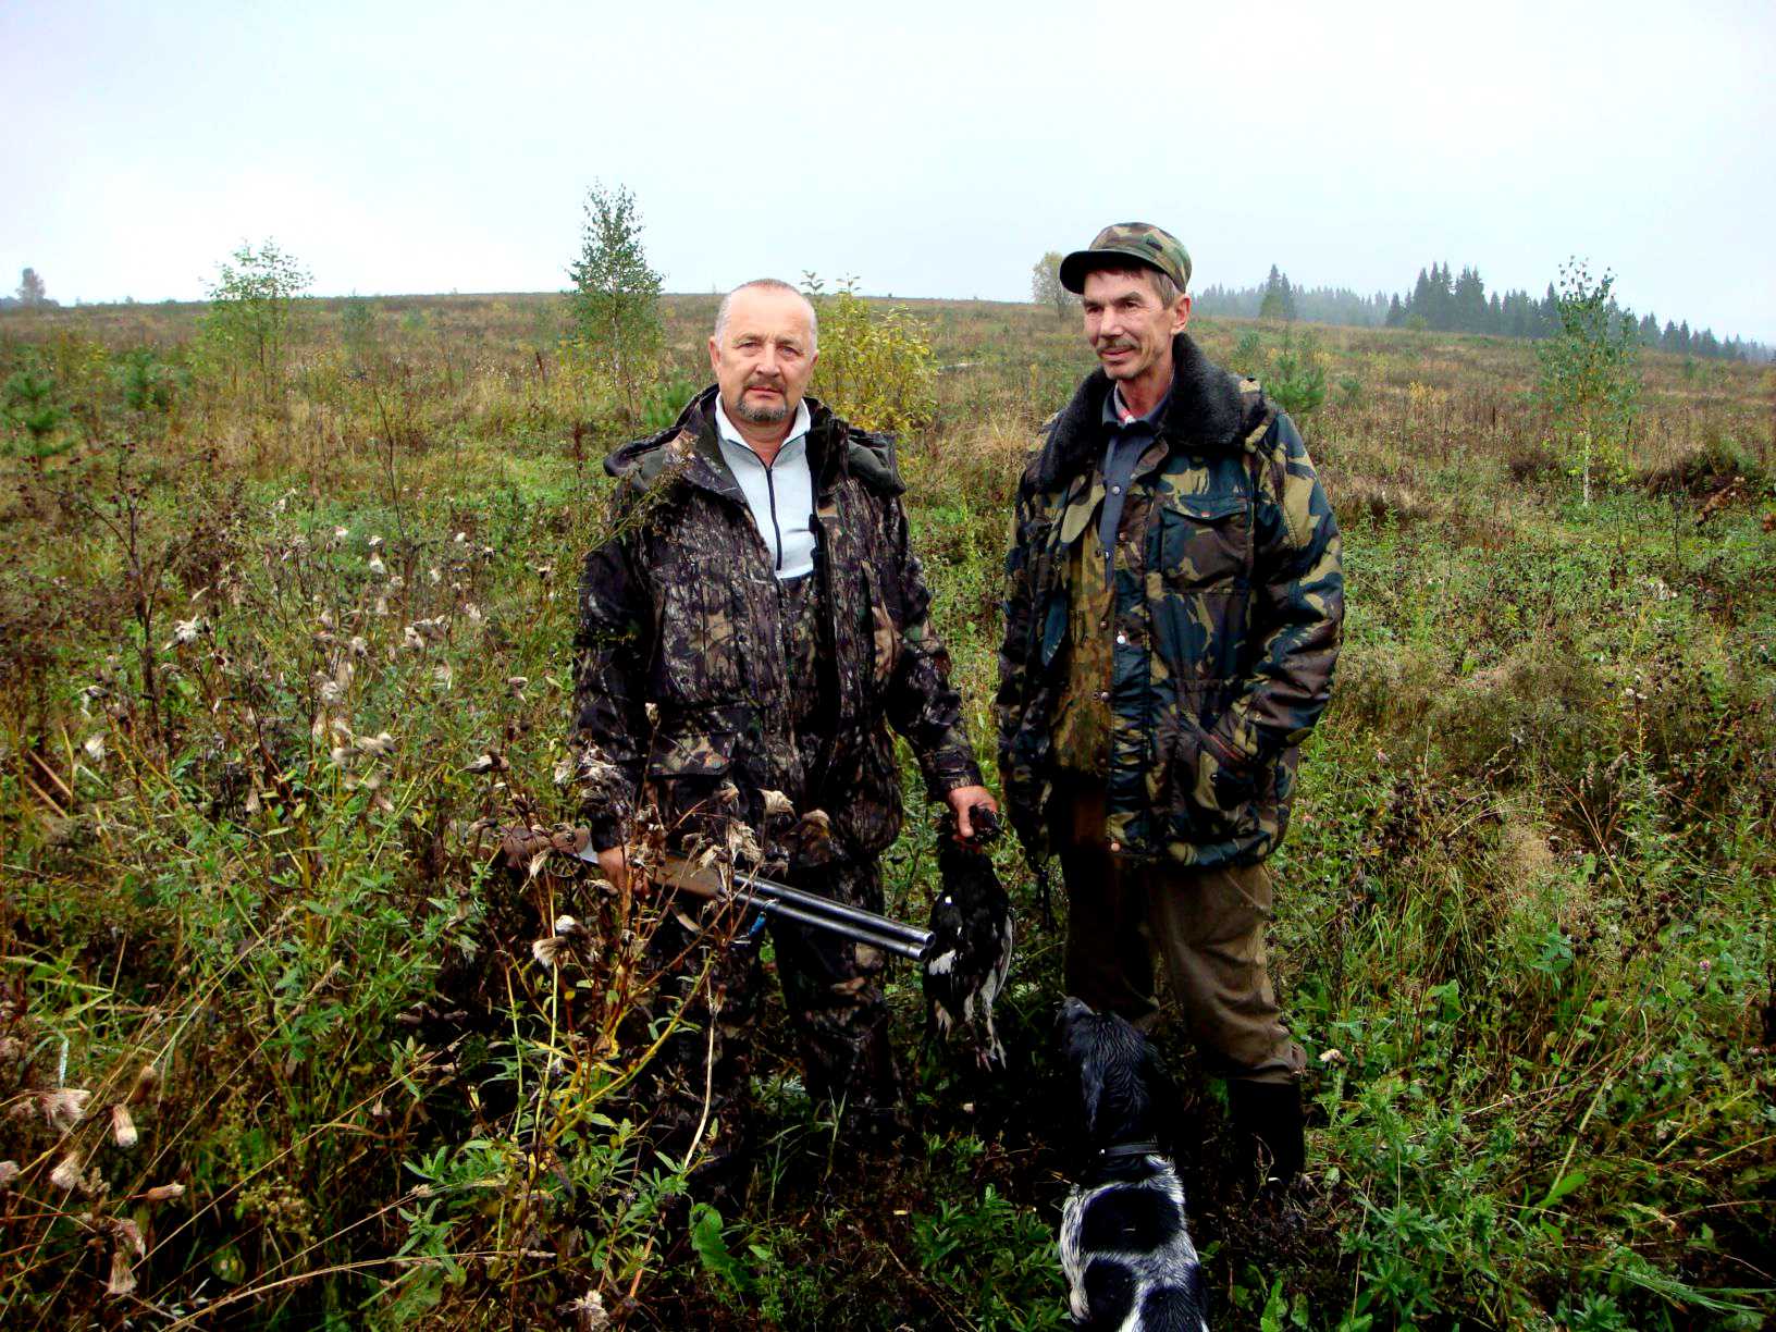
[[[792,886],[881,911],[877,858],[902,822],[890,726],[964,836],[973,808],[996,810],[931,627],[893,442],[805,396],[817,337],[787,282],[735,288],[709,339],[716,384],[606,460],[616,535],[581,579],[575,744],[613,881],[646,810],[673,838],[739,821]],[[657,952],[696,947],[677,929]],[[884,955],[783,920],[771,932],[808,1090],[867,1131],[899,1128]],[[760,968],[739,943],[718,961],[707,1028],[655,1060],[655,1122],[684,1135],[707,1114],[719,1158],[742,1138]]]

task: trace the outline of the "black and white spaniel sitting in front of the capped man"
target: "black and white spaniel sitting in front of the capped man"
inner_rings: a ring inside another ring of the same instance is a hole
[[[1147,1037],[1115,1014],[1067,998],[1058,1028],[1085,1128],[1085,1167],[1060,1213],[1074,1325],[1206,1332],[1185,1186],[1158,1142],[1170,1078]]]

